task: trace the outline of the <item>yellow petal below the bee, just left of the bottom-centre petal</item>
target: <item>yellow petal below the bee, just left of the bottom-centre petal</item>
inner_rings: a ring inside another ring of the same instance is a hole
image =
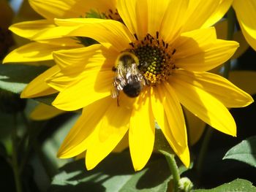
[[[126,107],[118,106],[115,99],[111,101],[86,151],[87,169],[97,166],[121,141],[129,128],[130,113]]]

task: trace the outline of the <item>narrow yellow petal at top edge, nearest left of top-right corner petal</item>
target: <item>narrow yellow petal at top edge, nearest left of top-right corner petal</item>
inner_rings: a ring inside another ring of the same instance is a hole
[[[226,14],[227,10],[231,7],[233,0],[217,0],[219,1],[219,6],[215,11],[210,15],[210,18],[206,20],[206,23],[203,24],[203,28],[208,26],[213,26],[214,23],[217,23],[219,20],[223,18]]]

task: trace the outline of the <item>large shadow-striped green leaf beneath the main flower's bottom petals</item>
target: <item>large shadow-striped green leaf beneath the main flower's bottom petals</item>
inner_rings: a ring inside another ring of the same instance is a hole
[[[96,168],[86,171],[84,160],[62,167],[53,177],[49,191],[167,191],[170,171],[162,155],[152,155],[140,172],[132,167],[130,155],[111,153]]]

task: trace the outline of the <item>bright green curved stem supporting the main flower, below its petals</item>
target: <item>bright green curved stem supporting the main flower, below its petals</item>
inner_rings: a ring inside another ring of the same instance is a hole
[[[178,183],[181,179],[178,171],[178,166],[175,161],[175,155],[167,153],[165,151],[161,151],[162,154],[165,155],[168,166],[170,168],[170,172],[173,174],[173,192],[178,192]]]

